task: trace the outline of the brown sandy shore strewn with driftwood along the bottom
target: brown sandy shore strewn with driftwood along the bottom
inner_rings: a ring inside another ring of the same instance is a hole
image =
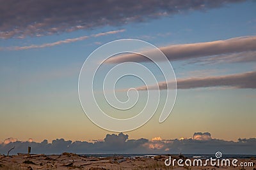
[[[253,167],[179,167],[165,166],[167,155],[155,157],[86,157],[74,153],[62,153],[61,155],[12,155],[10,157],[0,155],[0,169],[256,169],[255,158],[240,159],[239,162],[253,162]],[[172,156],[173,159],[179,159]]]

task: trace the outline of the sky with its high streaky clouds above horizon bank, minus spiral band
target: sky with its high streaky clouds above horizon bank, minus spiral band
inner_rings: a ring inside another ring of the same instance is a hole
[[[106,131],[86,117],[77,86],[84,61],[94,50],[126,38],[147,41],[159,48],[169,62],[158,55],[154,60],[171,63],[177,80],[170,116],[159,124],[164,100],[160,97],[160,109],[147,124],[124,132],[129,139],[189,139],[195,132],[209,132],[211,139],[237,143],[239,138],[256,138],[255,1],[77,0],[1,4],[3,144],[8,138],[31,138],[40,143],[61,138],[104,141],[107,134],[117,135],[118,132]],[[96,58],[94,61],[97,64]],[[134,54],[111,57],[97,81],[102,82],[111,67],[127,61],[147,66],[157,83],[145,89],[143,82],[129,76],[116,83],[120,90],[116,95],[121,101],[127,99],[125,90],[131,87],[141,94],[138,106],[124,114],[106,106],[102,93],[97,94],[101,107],[113,117],[131,117],[143,108],[145,91],[153,92],[159,87],[164,94],[168,90],[166,84],[173,84],[163,80],[154,64]],[[86,69],[90,71],[90,66]],[[96,83],[95,92],[100,88],[101,84]],[[151,141],[147,142],[144,146],[150,145]]]

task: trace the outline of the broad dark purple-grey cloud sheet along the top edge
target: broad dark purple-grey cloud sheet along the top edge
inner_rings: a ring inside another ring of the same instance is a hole
[[[220,8],[225,1],[3,1],[1,0],[0,38],[25,38],[59,32],[95,29],[145,22],[193,10]]]

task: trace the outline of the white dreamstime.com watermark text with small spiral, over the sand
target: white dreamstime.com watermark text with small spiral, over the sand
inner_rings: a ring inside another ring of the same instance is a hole
[[[216,152],[215,158],[210,159],[172,159],[170,156],[164,160],[165,166],[218,166],[218,167],[253,167],[253,162],[239,162],[237,159],[221,159],[222,153]]]

